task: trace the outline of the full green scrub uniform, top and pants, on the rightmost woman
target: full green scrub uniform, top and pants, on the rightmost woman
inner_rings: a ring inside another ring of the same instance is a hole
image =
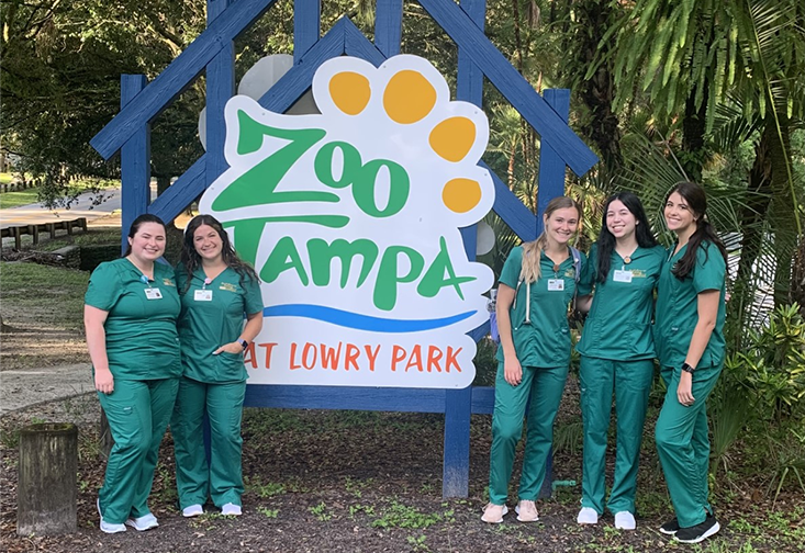
[[[709,439],[705,403],[724,366],[726,312],[726,263],[720,251],[716,246],[703,242],[696,251],[693,271],[684,280],[679,280],[671,269],[686,249],[687,245],[677,255],[672,255],[673,249],[669,252],[670,259],[658,284],[655,320],[661,376],[668,385],[655,437],[673,509],[682,528],[703,522],[705,511],[712,512],[707,499]],[[693,405],[684,406],[679,403],[677,387],[698,320],[697,295],[708,290],[720,292],[716,326],[693,373],[695,400]]]

